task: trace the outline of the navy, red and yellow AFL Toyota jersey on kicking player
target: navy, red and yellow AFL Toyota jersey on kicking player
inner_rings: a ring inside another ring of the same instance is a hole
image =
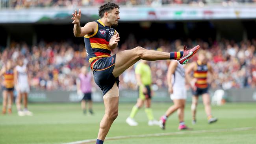
[[[97,23],[96,31],[84,36],[85,49],[91,69],[98,59],[110,57],[111,49],[108,44],[111,37],[116,33],[115,29],[105,26],[100,19],[95,22]]]

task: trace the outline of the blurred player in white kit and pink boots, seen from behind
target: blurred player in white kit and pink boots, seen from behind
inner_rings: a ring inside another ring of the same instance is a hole
[[[168,91],[171,94],[171,100],[173,100],[174,105],[169,107],[165,112],[165,115],[160,117],[160,127],[165,129],[167,118],[178,110],[178,118],[180,122],[178,129],[188,129],[184,122],[184,108],[187,98],[184,65],[181,65],[178,61],[171,60],[167,71],[167,83]]]

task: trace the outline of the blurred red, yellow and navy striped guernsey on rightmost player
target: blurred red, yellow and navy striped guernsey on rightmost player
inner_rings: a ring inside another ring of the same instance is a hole
[[[200,89],[205,89],[208,87],[207,84],[207,64],[202,64],[200,61],[197,61],[197,66],[194,69],[194,78],[197,79],[195,86]]]

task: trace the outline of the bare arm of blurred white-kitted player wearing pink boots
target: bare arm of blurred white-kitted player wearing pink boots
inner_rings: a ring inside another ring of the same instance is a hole
[[[168,91],[170,94],[173,93],[172,75],[174,74],[177,65],[178,63],[176,63],[176,61],[171,61],[167,71]]]

